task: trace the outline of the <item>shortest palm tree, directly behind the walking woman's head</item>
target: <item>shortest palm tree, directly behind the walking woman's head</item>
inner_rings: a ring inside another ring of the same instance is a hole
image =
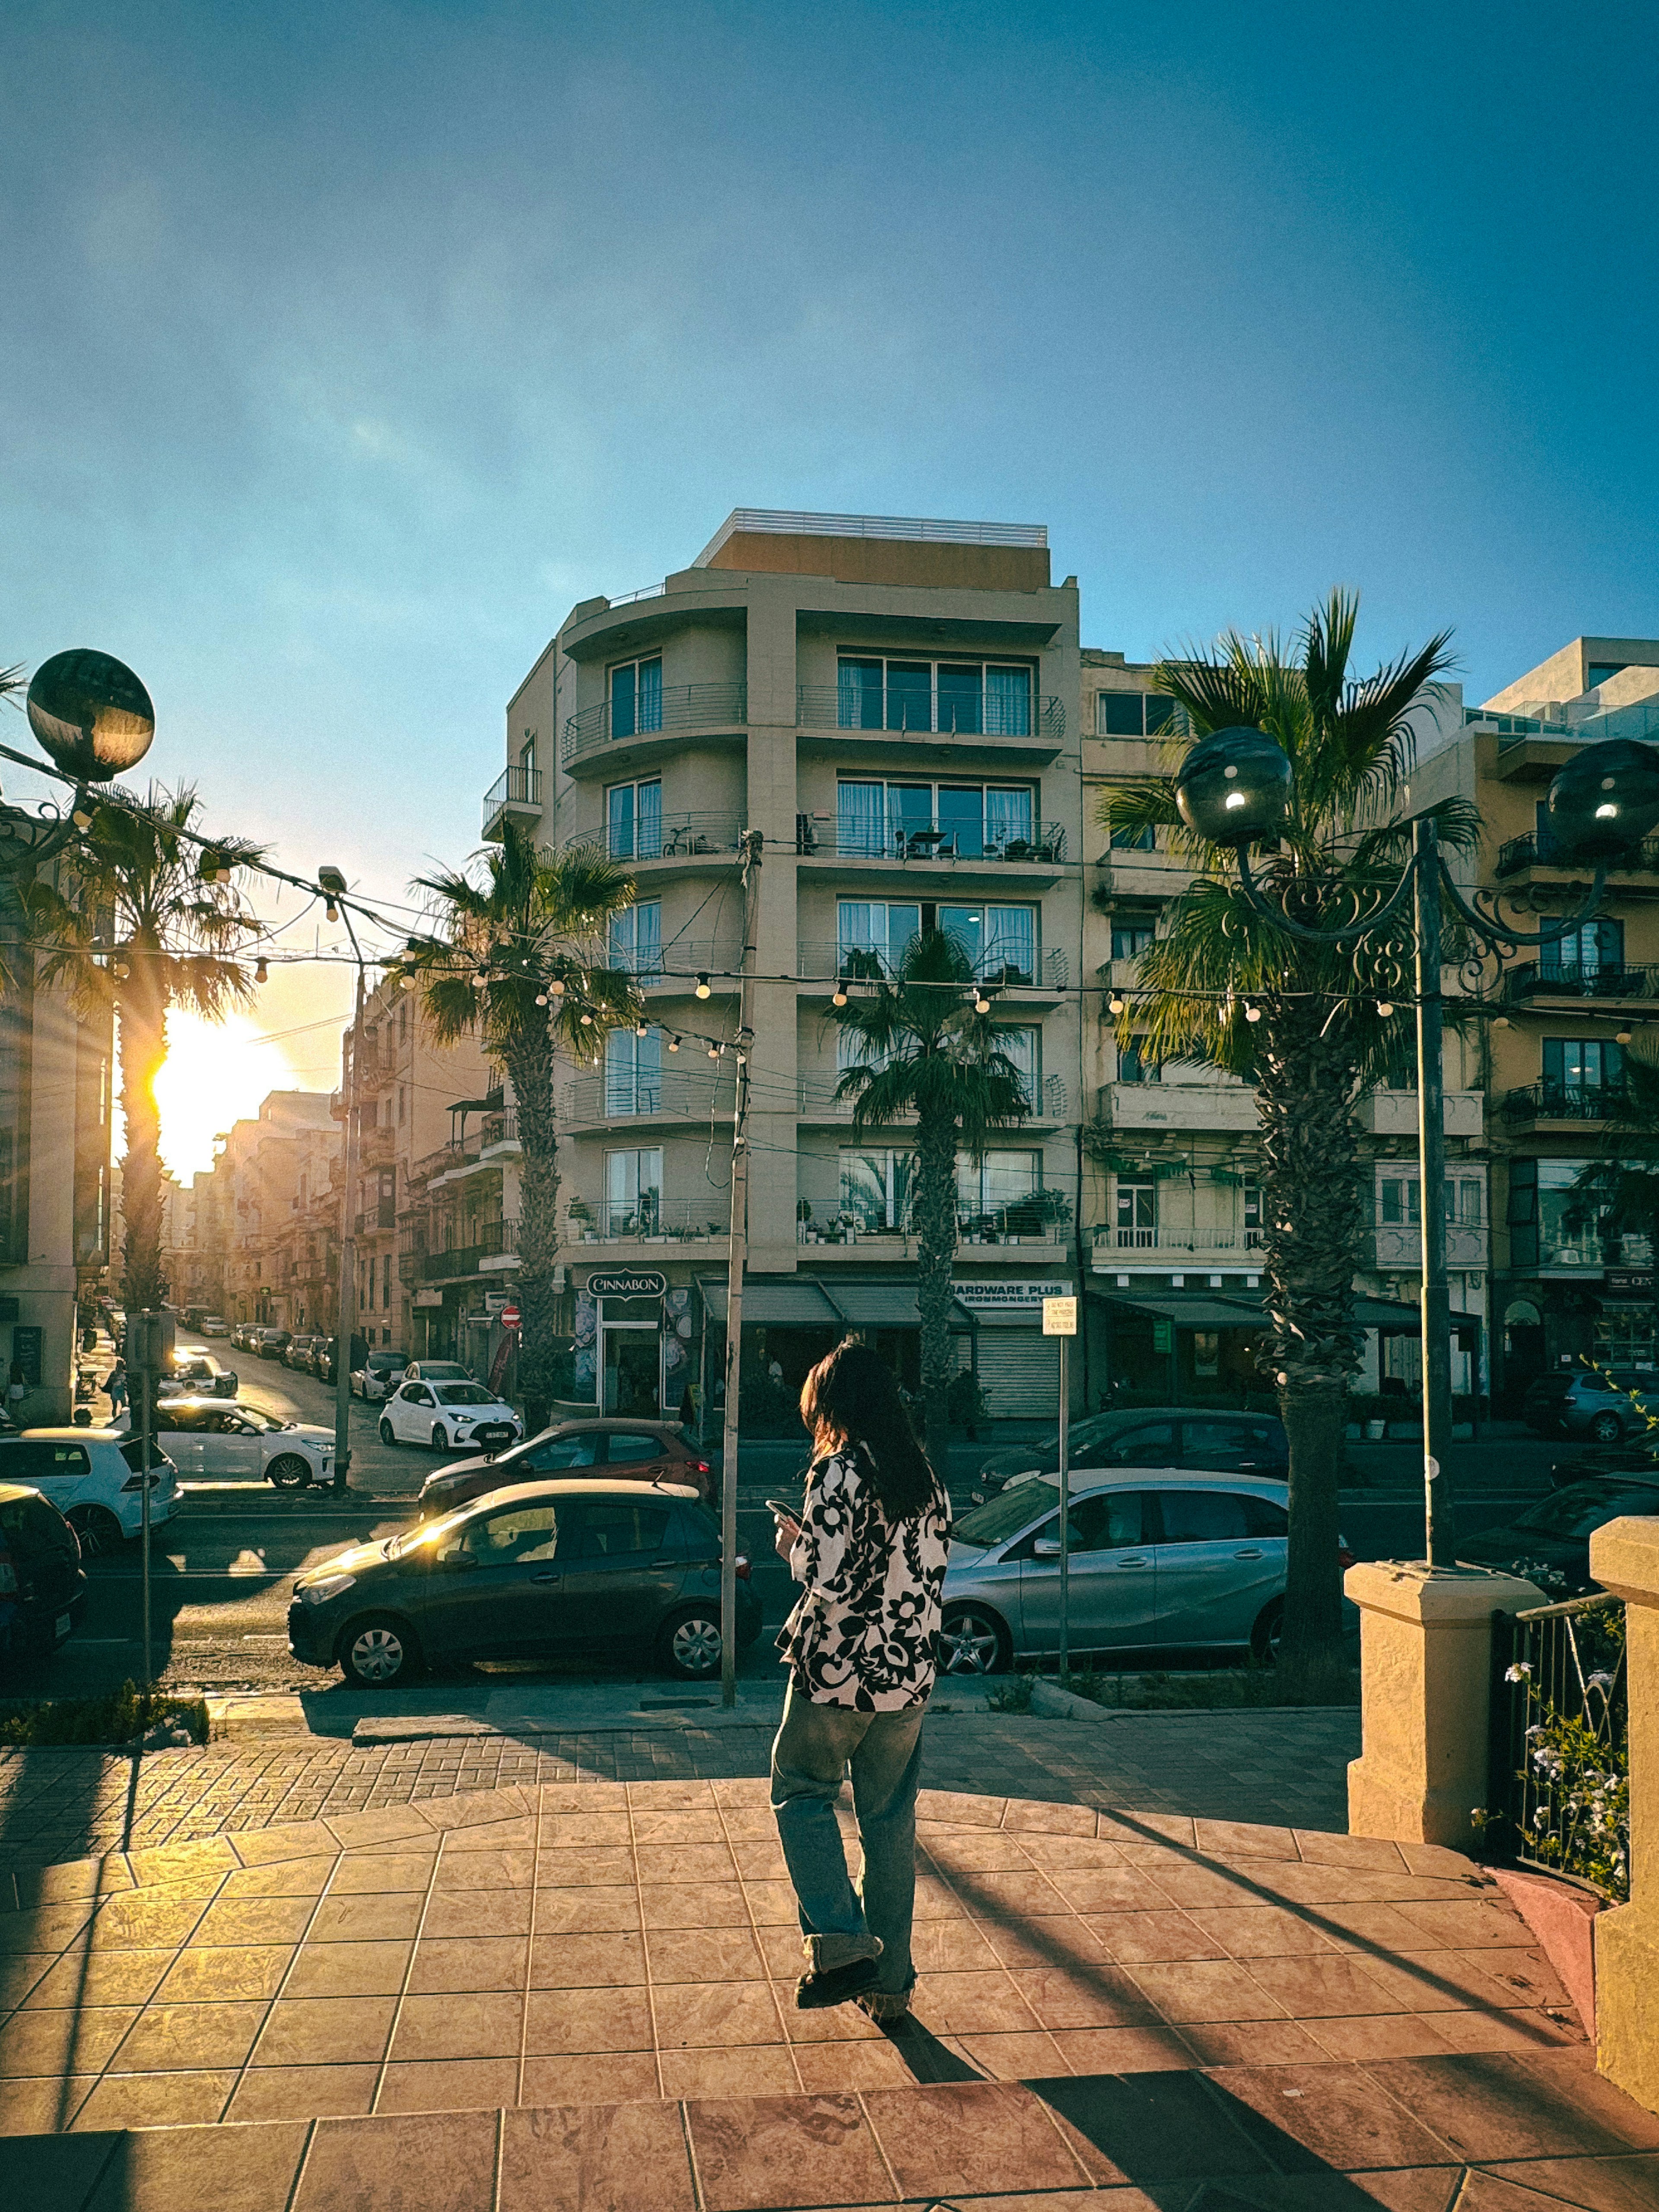
[[[916,1115],[916,1305],[922,1316],[927,1451],[945,1467],[945,1394],[951,1387],[951,1261],[956,1259],[956,1159],[984,1159],[993,1130],[1031,1113],[1020,1071],[998,1048],[989,1015],[973,1011],[973,962],[942,931],[905,947],[891,982],[834,1009],[854,1062],[836,1084],[865,1137]]]

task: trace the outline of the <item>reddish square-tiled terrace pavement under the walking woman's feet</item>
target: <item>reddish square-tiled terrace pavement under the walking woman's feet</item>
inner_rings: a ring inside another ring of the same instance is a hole
[[[1659,2205],[1451,1851],[929,1792],[916,2022],[801,2015],[765,1787],[431,1796],[11,1878],[29,2212]]]

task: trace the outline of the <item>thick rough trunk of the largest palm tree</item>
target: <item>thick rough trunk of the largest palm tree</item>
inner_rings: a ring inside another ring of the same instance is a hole
[[[1365,1239],[1349,1113],[1354,1068],[1334,1040],[1321,1037],[1323,1015],[1318,1000],[1274,1006],[1256,1066],[1272,1301],[1265,1358],[1290,1440],[1283,1650],[1298,1659],[1336,1648],[1343,1635],[1338,1484],[1347,1378],[1360,1347],[1354,1270]]]

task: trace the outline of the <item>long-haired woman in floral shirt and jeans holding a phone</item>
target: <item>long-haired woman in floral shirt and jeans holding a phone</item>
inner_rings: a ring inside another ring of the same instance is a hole
[[[889,1369],[847,1338],[801,1391],[812,1433],[803,1517],[776,1548],[803,1584],[779,1650],[790,1661],[772,1745],[772,1812],[801,1909],[803,2008],[856,2000],[902,2020],[916,1969],[916,1781],[933,1688],[949,1500]],[[863,1865],[847,1876],[836,1798],[852,1767]]]

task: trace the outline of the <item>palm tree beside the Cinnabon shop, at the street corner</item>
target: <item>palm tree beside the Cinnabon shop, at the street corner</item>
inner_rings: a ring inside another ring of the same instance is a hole
[[[409,938],[440,1044],[476,1033],[513,1084],[522,1186],[518,1298],[524,1314],[520,1387],[529,1436],[546,1427],[555,1389],[553,1265],[560,1250],[553,1048],[595,1062],[608,1031],[641,1020],[630,973],[613,969],[608,931],[635,900],[633,878],[602,854],[540,854],[509,821],[487,847],[482,880],[445,869],[416,880],[438,902],[429,936]]]

